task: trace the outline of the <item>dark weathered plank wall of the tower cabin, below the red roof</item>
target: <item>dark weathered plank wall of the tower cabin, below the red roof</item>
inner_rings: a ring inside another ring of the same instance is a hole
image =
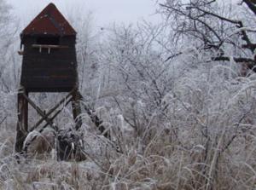
[[[61,37],[65,49],[32,48],[37,37],[23,37],[21,85],[30,92],[66,92],[77,84],[75,37]]]

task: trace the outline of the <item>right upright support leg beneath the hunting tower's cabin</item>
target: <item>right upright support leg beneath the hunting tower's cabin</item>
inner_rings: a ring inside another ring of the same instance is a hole
[[[76,89],[73,92],[73,100],[72,100],[73,118],[76,121],[76,130],[79,130],[79,128],[82,125],[82,118],[79,117],[79,115],[81,114],[80,101],[82,101],[82,97],[79,93],[79,89]]]

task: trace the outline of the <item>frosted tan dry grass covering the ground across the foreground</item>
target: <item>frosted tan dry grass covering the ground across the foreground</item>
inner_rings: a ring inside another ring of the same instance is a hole
[[[12,144],[5,142],[1,147],[1,189],[192,190],[255,187],[254,135],[241,135],[232,146],[222,150],[225,138],[230,135],[223,129],[216,143],[209,142],[207,149],[205,145],[192,142],[196,141],[195,131],[183,130],[182,133],[189,134],[187,138],[174,140],[172,130],[158,130],[145,141],[134,138],[122,154],[114,153],[111,148],[106,153],[106,146],[102,146],[100,154],[91,152],[90,158],[81,163],[23,158],[17,164]],[[2,133],[10,136],[9,141],[13,141],[12,134],[11,130]],[[131,136],[123,135],[122,138]],[[119,146],[125,147],[123,144]]]

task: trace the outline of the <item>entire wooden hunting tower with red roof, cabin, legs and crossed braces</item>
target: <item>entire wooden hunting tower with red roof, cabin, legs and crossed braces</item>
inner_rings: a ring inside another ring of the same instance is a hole
[[[58,130],[53,122],[62,104],[72,102],[73,118],[80,113],[76,58],[76,32],[53,3],[26,26],[20,34],[19,54],[23,56],[18,94],[18,124],[15,150],[21,152],[26,135],[44,121]],[[41,110],[29,93],[69,92],[49,112]],[[27,126],[28,103],[42,117],[34,126]],[[55,112],[57,111],[57,112]],[[55,114],[50,116],[51,114]],[[79,128],[79,125],[76,128]],[[41,129],[42,130],[42,129]]]

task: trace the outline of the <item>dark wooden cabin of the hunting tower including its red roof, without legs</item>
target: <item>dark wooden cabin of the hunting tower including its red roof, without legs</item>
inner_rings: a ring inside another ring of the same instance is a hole
[[[68,92],[76,85],[76,32],[50,3],[20,34],[20,84],[30,92]]]

